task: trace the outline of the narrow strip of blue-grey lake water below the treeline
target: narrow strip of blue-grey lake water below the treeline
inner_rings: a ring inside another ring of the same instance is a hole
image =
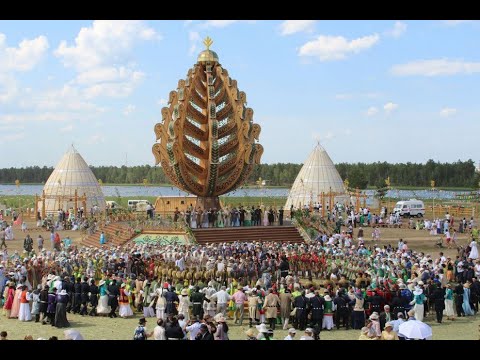
[[[0,195],[41,195],[43,185],[0,185]],[[134,198],[138,196],[183,196],[187,193],[171,186],[102,186],[105,196],[121,196],[126,198]],[[237,189],[225,196],[237,197],[287,197],[289,189],[273,188],[273,189]],[[374,190],[366,190],[364,193],[373,195]],[[389,190],[387,197],[398,199],[455,199],[457,195],[468,195],[470,191],[432,191],[425,190]]]

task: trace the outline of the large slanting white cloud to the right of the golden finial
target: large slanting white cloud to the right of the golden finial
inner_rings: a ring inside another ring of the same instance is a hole
[[[343,36],[320,35],[317,39],[302,45],[299,56],[313,56],[320,61],[342,60],[351,53],[371,48],[380,39],[378,34],[348,40]]]

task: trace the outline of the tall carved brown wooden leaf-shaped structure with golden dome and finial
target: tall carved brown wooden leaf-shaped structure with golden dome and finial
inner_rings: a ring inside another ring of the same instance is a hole
[[[241,186],[260,163],[260,125],[253,123],[247,95],[237,88],[218,55],[209,49],[198,56],[187,78],[171,91],[154,127],[152,152],[175,186],[216,205],[212,198]]]

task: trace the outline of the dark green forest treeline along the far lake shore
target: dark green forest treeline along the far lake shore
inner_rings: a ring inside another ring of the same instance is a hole
[[[335,165],[342,179],[348,179],[349,186],[361,189],[367,186],[381,187],[390,177],[391,186],[430,187],[435,180],[437,187],[478,188],[479,176],[473,160],[440,163],[433,160],[425,164],[387,162],[376,163],[340,163]],[[268,186],[290,186],[293,184],[302,164],[278,163],[257,166],[248,179],[249,185],[255,185],[259,178],[266,180]],[[104,184],[163,184],[169,183],[161,167],[141,166],[91,166],[97,179]],[[0,183],[21,184],[44,183],[52,173],[51,167],[26,167],[0,169]]]

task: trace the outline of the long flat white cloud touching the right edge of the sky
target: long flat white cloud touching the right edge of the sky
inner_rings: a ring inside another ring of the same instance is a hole
[[[473,74],[480,72],[480,62],[448,59],[416,60],[406,64],[394,65],[390,72],[397,76]]]

